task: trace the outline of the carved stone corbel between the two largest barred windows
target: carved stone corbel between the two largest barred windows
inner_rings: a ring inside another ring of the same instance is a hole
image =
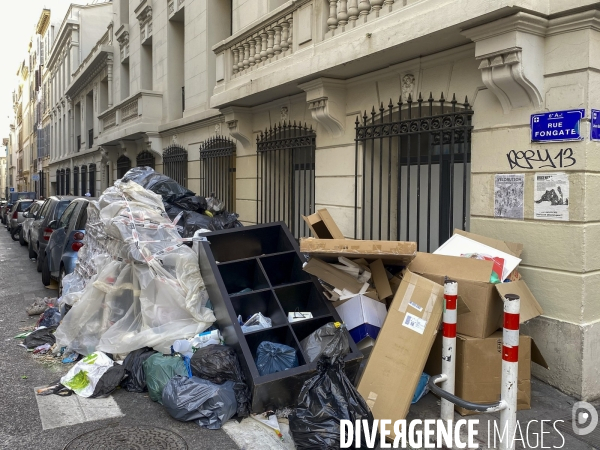
[[[342,136],[346,122],[346,83],[332,78],[318,78],[298,87],[306,92],[312,118],[332,137]]]

